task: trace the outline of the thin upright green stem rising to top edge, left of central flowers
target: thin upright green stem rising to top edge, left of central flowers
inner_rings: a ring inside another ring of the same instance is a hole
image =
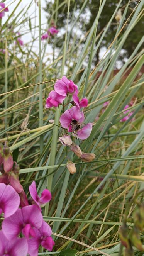
[[[41,59],[41,0],[39,0],[39,81],[42,82],[42,59]],[[39,85],[39,126],[43,125],[43,99],[42,86]],[[43,151],[43,134],[40,136],[40,152]]]

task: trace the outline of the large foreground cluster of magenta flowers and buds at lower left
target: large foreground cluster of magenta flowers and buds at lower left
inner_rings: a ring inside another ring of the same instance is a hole
[[[31,198],[27,198],[19,181],[19,166],[13,161],[7,141],[0,144],[0,171],[0,214],[4,214],[0,255],[37,256],[40,245],[51,251],[51,227],[41,213],[41,207],[51,200],[51,192],[45,189],[39,197],[33,181],[29,186]]]

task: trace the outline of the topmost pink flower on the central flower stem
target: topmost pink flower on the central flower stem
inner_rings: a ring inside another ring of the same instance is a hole
[[[54,85],[54,90],[62,95],[65,96],[67,93],[78,93],[78,86],[71,80],[68,80],[66,76],[63,76],[61,79],[57,80]]]

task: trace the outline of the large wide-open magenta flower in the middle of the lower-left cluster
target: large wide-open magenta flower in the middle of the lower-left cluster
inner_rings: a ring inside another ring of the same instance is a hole
[[[8,240],[15,239],[20,232],[29,239],[34,237],[34,227],[40,229],[43,222],[42,214],[36,205],[28,205],[18,209],[12,216],[2,222],[3,234]]]

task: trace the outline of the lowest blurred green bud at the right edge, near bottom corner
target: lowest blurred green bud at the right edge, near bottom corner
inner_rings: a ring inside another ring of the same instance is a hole
[[[139,233],[139,229],[134,226],[130,231],[130,241],[137,249],[139,249],[140,251],[144,251]]]

